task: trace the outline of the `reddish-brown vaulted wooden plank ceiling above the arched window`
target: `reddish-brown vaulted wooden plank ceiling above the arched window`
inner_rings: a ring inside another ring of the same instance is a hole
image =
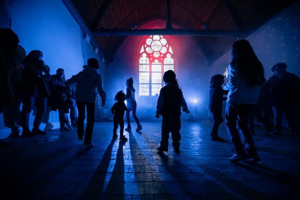
[[[137,28],[152,19],[167,19],[166,0],[71,0],[85,24],[95,28]],[[181,28],[210,30],[243,30],[246,35],[255,31],[295,0],[170,0],[171,21]],[[165,27],[162,27],[165,28]],[[126,36],[96,37],[109,62]],[[209,63],[228,51],[235,37],[193,36]]]

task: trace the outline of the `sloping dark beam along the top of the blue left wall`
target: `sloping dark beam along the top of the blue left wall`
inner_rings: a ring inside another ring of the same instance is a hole
[[[91,33],[91,31],[89,30],[89,28],[87,27],[83,19],[81,18],[80,14],[78,13],[75,6],[73,5],[72,1],[71,0],[61,0],[61,1],[64,3],[65,7],[69,10],[70,14],[73,16],[73,18],[75,19],[79,27],[82,28],[82,30],[88,35],[88,37],[90,37],[92,45],[98,48],[99,50],[98,54],[102,56],[105,61],[107,61],[107,57],[104,54],[102,48],[99,46],[98,41],[95,39],[94,35]]]

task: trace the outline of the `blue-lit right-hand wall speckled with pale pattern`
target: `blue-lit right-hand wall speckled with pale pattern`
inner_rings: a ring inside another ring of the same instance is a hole
[[[272,76],[271,67],[285,62],[287,70],[300,76],[300,0],[277,14],[246,38],[265,67],[265,76]],[[230,62],[231,50],[217,59],[210,73],[223,74]]]

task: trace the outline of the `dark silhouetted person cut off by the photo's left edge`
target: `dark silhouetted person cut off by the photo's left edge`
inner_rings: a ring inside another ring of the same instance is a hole
[[[15,105],[15,95],[10,80],[10,72],[22,67],[14,61],[18,36],[8,28],[0,28],[0,113],[4,105]],[[0,146],[7,146],[0,141]]]

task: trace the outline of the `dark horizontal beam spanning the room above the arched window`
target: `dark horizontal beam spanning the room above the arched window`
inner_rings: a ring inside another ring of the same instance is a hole
[[[188,35],[188,36],[243,36],[241,31],[195,30],[195,29],[98,29],[92,32],[94,36],[118,35]]]

